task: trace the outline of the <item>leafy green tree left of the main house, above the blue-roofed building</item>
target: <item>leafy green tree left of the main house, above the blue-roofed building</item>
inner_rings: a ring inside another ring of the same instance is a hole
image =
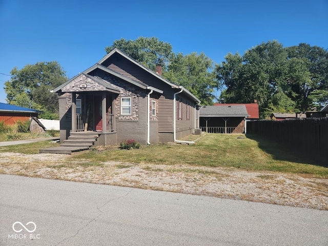
[[[44,111],[40,117],[58,117],[57,94],[50,90],[68,78],[57,61],[26,65],[20,70],[15,67],[10,74],[12,77],[4,87],[9,104]]]

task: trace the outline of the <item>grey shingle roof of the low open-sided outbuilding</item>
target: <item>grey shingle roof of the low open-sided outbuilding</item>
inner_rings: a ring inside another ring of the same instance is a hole
[[[199,110],[201,117],[247,117],[250,116],[244,105],[203,106]]]

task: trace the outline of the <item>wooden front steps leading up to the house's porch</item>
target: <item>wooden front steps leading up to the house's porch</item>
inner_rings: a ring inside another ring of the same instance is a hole
[[[41,149],[39,153],[72,154],[73,152],[88,150],[97,141],[98,132],[71,132],[67,140],[60,147]]]

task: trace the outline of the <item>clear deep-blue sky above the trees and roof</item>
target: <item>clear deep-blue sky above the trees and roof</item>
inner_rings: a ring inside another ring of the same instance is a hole
[[[158,37],[217,64],[262,42],[328,48],[328,0],[0,0],[0,102],[14,67],[56,60],[73,77],[120,38]],[[1,74],[3,73],[3,74]]]

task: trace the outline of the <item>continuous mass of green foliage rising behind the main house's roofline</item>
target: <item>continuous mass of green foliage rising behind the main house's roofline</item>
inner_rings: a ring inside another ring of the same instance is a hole
[[[203,53],[174,54],[171,44],[162,42],[157,37],[138,37],[135,40],[121,38],[105,50],[110,53],[114,48],[153,71],[156,65],[161,64],[163,77],[188,89],[202,104],[213,104],[214,88],[218,87],[212,72],[214,63]]]

